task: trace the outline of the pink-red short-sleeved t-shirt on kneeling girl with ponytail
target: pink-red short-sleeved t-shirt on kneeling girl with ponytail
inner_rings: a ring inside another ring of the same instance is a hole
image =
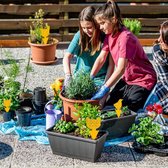
[[[139,40],[126,28],[114,37],[106,35],[103,50],[110,51],[115,65],[118,59],[128,59],[123,80],[129,85],[139,85],[151,90],[156,83],[155,70],[147,58]]]

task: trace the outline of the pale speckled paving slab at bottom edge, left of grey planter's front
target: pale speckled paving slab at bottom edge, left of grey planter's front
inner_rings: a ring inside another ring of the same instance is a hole
[[[49,145],[17,141],[11,168],[73,167],[73,159],[52,154]]]

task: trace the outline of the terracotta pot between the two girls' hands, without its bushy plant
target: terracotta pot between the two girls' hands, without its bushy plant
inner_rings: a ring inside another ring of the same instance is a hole
[[[78,117],[74,115],[73,112],[76,112],[76,108],[74,105],[77,103],[79,106],[81,106],[83,103],[87,102],[92,105],[99,106],[99,100],[74,100],[74,99],[68,99],[63,96],[62,93],[59,94],[59,97],[63,101],[63,109],[64,109],[64,116],[63,119],[65,121],[72,121],[75,122]]]

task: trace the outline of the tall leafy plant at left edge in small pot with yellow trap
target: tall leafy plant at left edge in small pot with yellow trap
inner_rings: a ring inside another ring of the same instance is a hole
[[[14,111],[20,106],[21,84],[16,80],[20,68],[11,52],[4,50],[3,54],[9,59],[9,66],[1,62],[0,111],[3,111],[4,121],[9,121],[14,119]]]

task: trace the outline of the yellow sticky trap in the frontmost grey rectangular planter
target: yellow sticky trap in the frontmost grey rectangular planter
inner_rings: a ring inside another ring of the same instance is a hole
[[[96,139],[99,131],[96,130],[97,128],[99,128],[101,125],[101,118],[98,117],[96,119],[90,119],[90,118],[86,118],[86,126],[91,129],[90,131],[90,135],[92,139]]]

